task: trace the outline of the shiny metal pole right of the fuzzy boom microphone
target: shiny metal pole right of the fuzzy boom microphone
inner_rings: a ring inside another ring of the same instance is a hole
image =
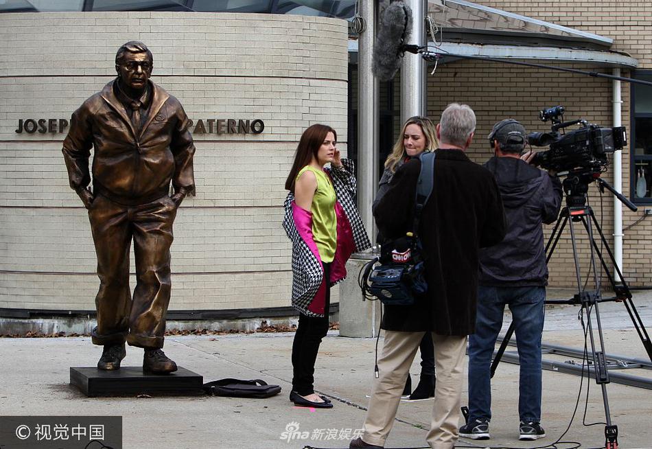
[[[427,0],[405,0],[412,10],[410,44],[426,45]],[[401,125],[415,115],[426,115],[426,61],[406,53],[401,65]]]

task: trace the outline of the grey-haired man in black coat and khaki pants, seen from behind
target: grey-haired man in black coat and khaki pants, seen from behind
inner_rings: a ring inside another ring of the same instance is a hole
[[[412,229],[421,161],[399,168],[374,209],[378,229],[388,240],[415,231],[423,245],[428,291],[410,306],[385,306],[379,378],[373,383],[362,437],[350,448],[382,448],[392,428],[401,392],[421,338],[432,335],[437,382],[431,448],[451,449],[458,438],[467,336],[475,330],[478,249],[502,240],[505,219],[491,172],[464,153],[473,139],[476,117],[469,106],[450,104],[436,126],[434,185],[423,206],[419,229]]]

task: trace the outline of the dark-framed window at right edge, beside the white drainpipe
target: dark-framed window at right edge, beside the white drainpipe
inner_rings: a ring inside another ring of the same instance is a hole
[[[636,71],[634,78],[652,82],[652,71]],[[631,198],[652,204],[652,87],[631,86]]]

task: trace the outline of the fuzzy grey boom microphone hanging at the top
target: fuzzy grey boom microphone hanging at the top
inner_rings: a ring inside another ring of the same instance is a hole
[[[412,32],[412,10],[400,0],[391,2],[380,19],[373,47],[371,71],[382,81],[394,78],[401,68],[404,45]]]

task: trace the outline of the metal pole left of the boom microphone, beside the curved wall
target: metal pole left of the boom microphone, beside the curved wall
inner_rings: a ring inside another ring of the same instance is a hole
[[[358,210],[371,240],[375,224],[371,205],[378,187],[378,119],[380,91],[371,73],[371,59],[376,34],[375,0],[360,0],[364,30],[358,36]]]

